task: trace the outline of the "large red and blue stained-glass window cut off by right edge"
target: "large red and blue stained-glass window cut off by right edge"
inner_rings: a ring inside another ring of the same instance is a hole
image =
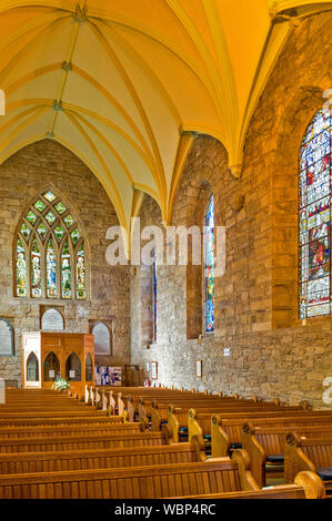
[[[319,110],[300,150],[300,318],[331,311],[331,114]]]

